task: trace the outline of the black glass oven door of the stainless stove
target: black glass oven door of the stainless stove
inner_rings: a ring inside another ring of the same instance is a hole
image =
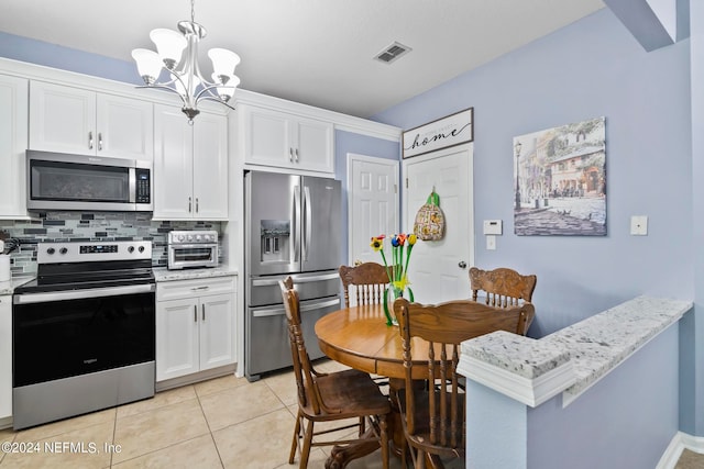
[[[13,297],[13,387],[155,359],[155,286]]]

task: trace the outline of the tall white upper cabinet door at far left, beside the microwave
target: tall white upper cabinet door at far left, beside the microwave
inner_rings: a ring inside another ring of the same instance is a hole
[[[0,219],[26,216],[28,90],[28,80],[0,75]]]

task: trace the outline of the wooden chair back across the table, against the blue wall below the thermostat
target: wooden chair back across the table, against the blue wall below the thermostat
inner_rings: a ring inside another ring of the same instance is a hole
[[[485,294],[484,302],[492,306],[507,308],[531,303],[538,277],[524,276],[516,270],[501,267],[494,270],[470,269],[472,300],[477,301],[479,292]]]

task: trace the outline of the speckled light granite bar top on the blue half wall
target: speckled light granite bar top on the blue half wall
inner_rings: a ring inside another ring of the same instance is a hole
[[[495,332],[462,344],[461,368],[479,372],[484,384],[481,375],[492,368],[521,382],[566,369],[573,378],[557,392],[571,402],[691,308],[691,301],[638,297],[540,339]]]

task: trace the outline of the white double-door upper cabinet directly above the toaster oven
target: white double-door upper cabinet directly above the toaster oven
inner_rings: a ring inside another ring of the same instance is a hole
[[[154,217],[228,219],[228,121],[179,108],[154,108]]]

